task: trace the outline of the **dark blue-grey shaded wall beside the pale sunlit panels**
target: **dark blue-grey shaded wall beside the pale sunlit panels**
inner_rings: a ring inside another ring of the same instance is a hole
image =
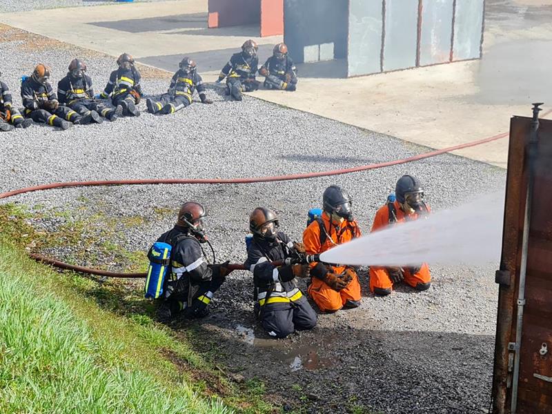
[[[320,45],[324,45],[322,59],[328,59],[331,43],[333,58],[346,58],[347,20],[348,0],[285,0],[284,42],[293,60],[304,61],[305,47],[312,58],[312,51],[319,51]]]

